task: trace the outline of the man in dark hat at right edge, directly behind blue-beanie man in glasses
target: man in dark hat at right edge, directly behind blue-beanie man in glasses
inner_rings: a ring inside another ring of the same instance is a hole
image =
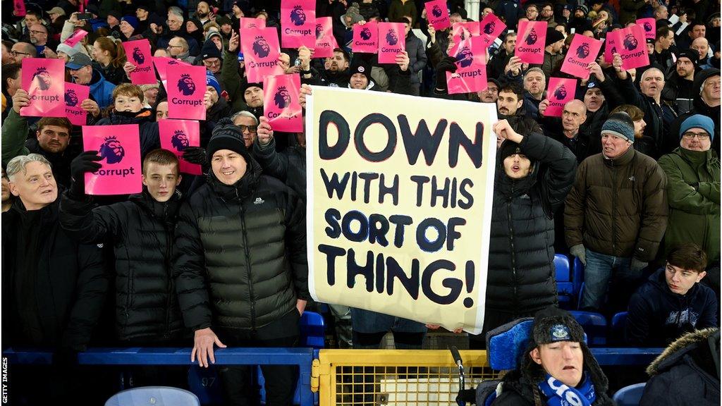
[[[669,126],[669,136],[666,139],[664,152],[672,152],[679,146],[679,139],[671,137],[671,134],[679,134],[679,126],[684,120],[694,114],[702,114],[712,118],[715,124],[714,137],[712,137],[712,149],[720,156],[720,70],[705,69],[695,74],[695,82],[692,84],[695,91],[695,100],[692,101],[692,110],[682,114]]]

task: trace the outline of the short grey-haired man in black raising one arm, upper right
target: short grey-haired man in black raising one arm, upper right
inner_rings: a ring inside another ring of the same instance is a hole
[[[642,109],[647,121],[644,137],[636,140],[640,143],[636,149],[658,159],[664,153],[662,143],[669,131],[669,124],[677,117],[671,106],[661,103],[664,74],[657,68],[645,70],[640,77],[638,90],[627,71],[622,69],[622,57],[619,53],[614,53],[612,64],[617,71],[619,91],[624,95],[627,103]]]

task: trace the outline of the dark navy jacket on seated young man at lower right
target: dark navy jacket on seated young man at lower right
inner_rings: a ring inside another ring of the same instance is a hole
[[[630,299],[625,338],[628,345],[666,347],[686,332],[717,326],[717,298],[695,283],[685,295],[672,293],[657,269]]]

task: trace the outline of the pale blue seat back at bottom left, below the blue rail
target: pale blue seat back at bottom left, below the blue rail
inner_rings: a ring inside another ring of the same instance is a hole
[[[142,386],[114,394],[105,406],[201,406],[195,394],[169,386]]]

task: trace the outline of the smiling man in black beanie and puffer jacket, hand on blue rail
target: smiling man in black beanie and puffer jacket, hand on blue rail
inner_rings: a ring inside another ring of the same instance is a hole
[[[215,362],[214,345],[293,347],[308,295],[303,204],[261,167],[224,118],[206,149],[208,181],[181,207],[174,270],[191,361]],[[291,405],[293,366],[261,366],[267,401]],[[248,405],[249,366],[219,369],[228,405]]]

